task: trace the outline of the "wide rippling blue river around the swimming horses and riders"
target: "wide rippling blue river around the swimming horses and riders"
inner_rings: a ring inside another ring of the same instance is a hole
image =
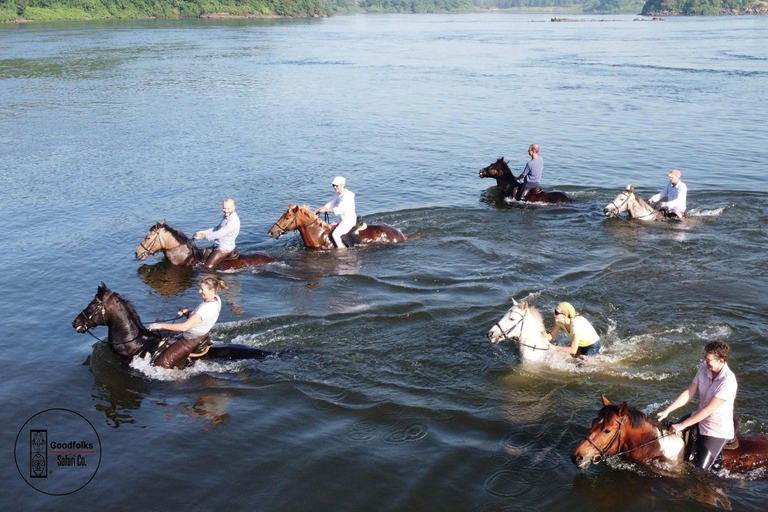
[[[768,432],[768,17],[549,18],[0,26],[2,508],[763,510],[759,472],[581,471],[570,454],[601,393],[655,413],[716,339],[741,430]],[[532,142],[572,205],[499,202],[478,178],[500,156],[521,172]],[[686,223],[605,218],[673,167]],[[267,237],[289,201],[329,201],[337,174],[409,240],[328,253]],[[214,226],[230,196],[241,251],[279,261],[220,274],[213,337],[294,355],[154,370],[74,331],[102,281],[145,324],[194,307],[200,273],[133,252],[157,221]],[[572,302],[603,353],[536,365],[491,346],[513,297],[548,328]],[[50,408],[101,441],[67,496],[10,456]]]

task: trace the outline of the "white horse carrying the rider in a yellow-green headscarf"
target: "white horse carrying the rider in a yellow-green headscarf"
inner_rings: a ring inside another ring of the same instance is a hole
[[[512,299],[512,307],[488,331],[492,344],[501,340],[517,340],[520,357],[525,361],[542,361],[550,353],[544,320],[538,309],[528,306],[528,301],[520,304]]]

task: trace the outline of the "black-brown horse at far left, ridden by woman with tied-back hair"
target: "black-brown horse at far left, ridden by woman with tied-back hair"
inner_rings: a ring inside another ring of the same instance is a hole
[[[72,327],[81,334],[99,325],[109,328],[107,341],[123,358],[152,356],[160,345],[161,337],[147,330],[141,323],[133,304],[101,283],[96,296],[72,321]],[[214,344],[202,356],[204,359],[264,359],[277,352],[267,352],[246,345]],[[161,358],[162,359],[162,358]]]

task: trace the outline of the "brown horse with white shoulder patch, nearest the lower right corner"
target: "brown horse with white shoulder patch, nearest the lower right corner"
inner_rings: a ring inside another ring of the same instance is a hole
[[[602,400],[603,408],[592,420],[592,428],[571,455],[576,466],[586,469],[590,464],[616,456],[643,465],[683,461],[682,434],[663,429],[626,402],[612,405],[605,396]],[[746,473],[768,466],[768,435],[740,435],[737,439],[733,449],[726,446],[723,450],[723,469]]]

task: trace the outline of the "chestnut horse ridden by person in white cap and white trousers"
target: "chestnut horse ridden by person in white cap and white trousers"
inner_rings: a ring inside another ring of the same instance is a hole
[[[278,239],[298,229],[304,244],[310,249],[334,249],[336,246],[331,239],[331,232],[335,226],[323,222],[306,206],[288,203],[288,210],[272,225],[269,237]],[[357,233],[360,245],[393,244],[405,240],[405,235],[399,229],[386,224],[368,224]]]

